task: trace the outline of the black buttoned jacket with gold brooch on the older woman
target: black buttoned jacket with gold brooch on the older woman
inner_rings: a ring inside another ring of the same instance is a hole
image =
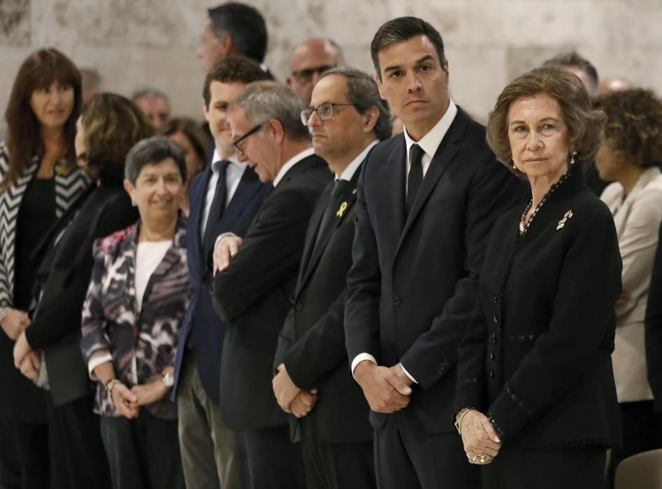
[[[614,446],[611,353],[621,294],[614,219],[579,168],[520,236],[523,211],[515,207],[494,225],[459,347],[455,408],[489,412],[504,442],[520,448]]]

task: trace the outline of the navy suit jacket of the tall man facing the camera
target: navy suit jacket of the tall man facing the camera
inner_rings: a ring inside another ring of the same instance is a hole
[[[418,384],[403,416],[431,433],[452,430],[457,345],[477,295],[494,221],[524,200],[497,163],[484,126],[457,115],[405,215],[403,135],[375,146],[359,178],[353,265],[345,305],[347,353],[402,362]],[[387,414],[370,413],[380,428]]]

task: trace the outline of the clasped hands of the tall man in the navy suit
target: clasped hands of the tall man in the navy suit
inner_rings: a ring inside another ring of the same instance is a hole
[[[354,378],[363,389],[370,409],[377,413],[393,413],[409,404],[413,382],[400,363],[383,367],[364,360],[354,368]]]

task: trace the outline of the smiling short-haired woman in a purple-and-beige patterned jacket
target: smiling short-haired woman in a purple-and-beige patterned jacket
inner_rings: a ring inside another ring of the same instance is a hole
[[[189,300],[184,151],[165,136],[131,149],[124,187],[141,219],[94,244],[82,353],[117,489],[183,488],[177,409],[168,393]]]

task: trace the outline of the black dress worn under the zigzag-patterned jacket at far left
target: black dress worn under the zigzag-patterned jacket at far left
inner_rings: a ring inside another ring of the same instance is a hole
[[[31,255],[55,223],[55,180],[33,178],[16,221],[13,307],[29,310],[35,266]],[[0,485],[48,485],[44,393],[14,367],[13,340],[0,334]]]

